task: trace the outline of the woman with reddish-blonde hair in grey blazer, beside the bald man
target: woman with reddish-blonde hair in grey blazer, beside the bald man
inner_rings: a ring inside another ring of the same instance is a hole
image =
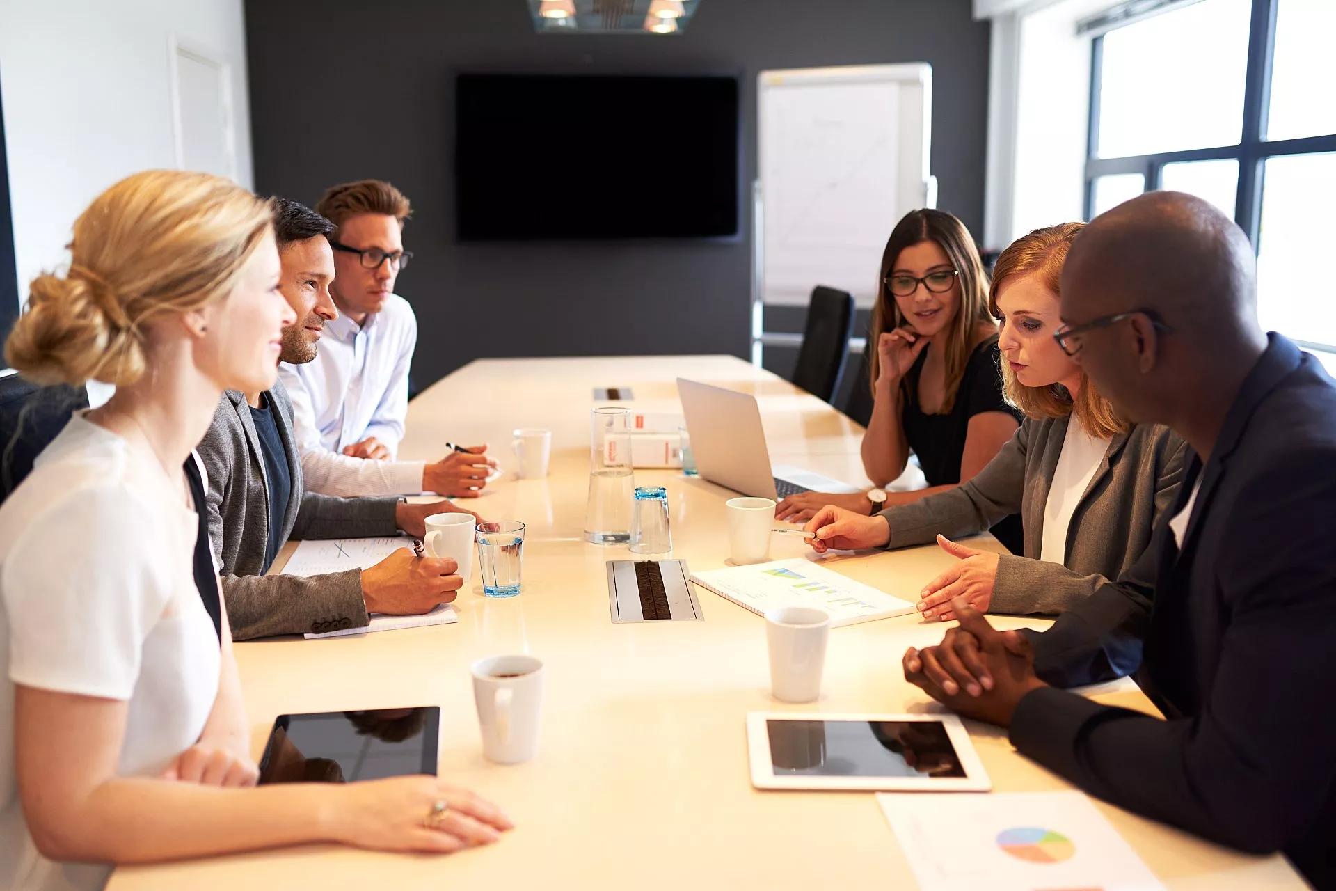
[[[1063,347],[1054,337],[1062,264],[1083,227],[1035,230],[993,270],[989,307],[1002,326],[1005,393],[1025,413],[997,457],[951,492],[871,517],[822,508],[806,526],[818,552],[937,540],[959,561],[919,593],[926,618],[954,618],[957,596],[979,610],[1061,613],[1132,568],[1178,493],[1182,438],[1120,417],[1081,370],[1075,338]],[[1023,526],[1019,554],[951,541],[1014,513]]]

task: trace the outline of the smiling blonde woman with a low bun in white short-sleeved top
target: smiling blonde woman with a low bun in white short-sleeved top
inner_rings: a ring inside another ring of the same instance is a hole
[[[0,508],[0,887],[303,842],[454,851],[509,827],[436,777],[255,783],[226,609],[192,576],[191,450],[224,387],[273,385],[291,310],[269,207],[148,171],[75,222],[5,345],[40,382],[116,385]]]

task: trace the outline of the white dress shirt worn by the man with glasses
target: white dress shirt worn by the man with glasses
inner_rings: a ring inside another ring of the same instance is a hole
[[[409,410],[409,365],[417,345],[413,307],[391,294],[362,325],[339,315],[325,325],[315,359],[282,363],[307,492],[399,496],[422,492],[424,461],[394,461]],[[390,461],[342,454],[375,437]]]

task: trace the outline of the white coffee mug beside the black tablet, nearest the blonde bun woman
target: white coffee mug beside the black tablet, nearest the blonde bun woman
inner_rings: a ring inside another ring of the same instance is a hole
[[[492,656],[473,663],[482,753],[498,764],[520,764],[538,749],[542,661],[533,656]]]

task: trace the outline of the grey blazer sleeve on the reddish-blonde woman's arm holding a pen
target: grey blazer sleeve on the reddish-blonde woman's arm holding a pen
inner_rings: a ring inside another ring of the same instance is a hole
[[[1002,450],[965,485],[882,510],[876,516],[891,528],[886,548],[926,545],[939,534],[947,538],[974,536],[1002,517],[1019,513],[1027,446],[1029,425],[1022,423]]]

